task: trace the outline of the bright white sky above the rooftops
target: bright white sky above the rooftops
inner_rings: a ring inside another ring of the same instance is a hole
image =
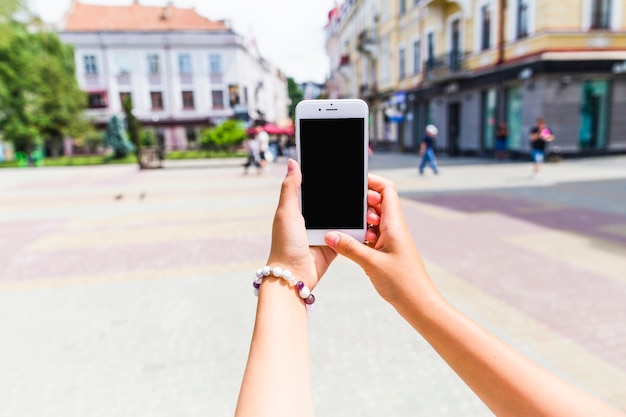
[[[165,6],[168,0],[139,0]],[[71,0],[28,0],[29,8],[47,23],[58,23]],[[81,0],[81,3],[128,5],[132,0]],[[323,82],[329,73],[324,25],[335,0],[174,0],[194,7],[211,20],[227,19],[233,29],[253,37],[261,55],[297,82]]]

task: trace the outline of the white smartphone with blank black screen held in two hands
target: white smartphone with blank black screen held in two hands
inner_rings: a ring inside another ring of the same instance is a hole
[[[296,106],[300,209],[309,245],[330,230],[365,240],[368,115],[363,100],[304,100]]]

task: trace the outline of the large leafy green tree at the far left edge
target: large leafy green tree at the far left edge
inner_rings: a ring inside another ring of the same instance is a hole
[[[11,17],[0,20],[6,29],[0,41],[0,134],[13,141],[16,150],[31,152],[47,144],[59,154],[64,137],[91,133],[73,49],[55,33],[32,32]]]

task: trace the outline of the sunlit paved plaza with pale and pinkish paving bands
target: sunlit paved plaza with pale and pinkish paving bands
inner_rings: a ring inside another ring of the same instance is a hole
[[[626,410],[626,157],[375,154],[459,309]],[[0,170],[0,417],[233,414],[285,161]],[[309,321],[318,416],[491,416],[338,259]],[[290,387],[276,387],[298,395]]]

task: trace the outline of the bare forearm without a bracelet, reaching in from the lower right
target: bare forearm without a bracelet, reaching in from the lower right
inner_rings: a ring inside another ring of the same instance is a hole
[[[436,297],[435,297],[436,298]],[[525,358],[439,297],[400,313],[498,416],[623,416]]]

